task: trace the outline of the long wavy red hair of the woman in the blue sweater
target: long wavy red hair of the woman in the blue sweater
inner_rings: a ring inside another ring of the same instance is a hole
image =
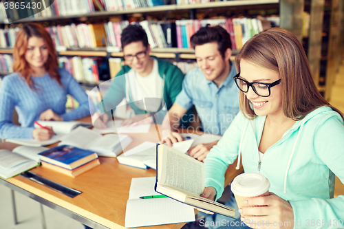
[[[34,89],[34,83],[32,82],[30,76],[33,71],[30,68],[29,63],[25,60],[25,52],[28,49],[28,41],[34,36],[41,38],[45,41],[47,45],[47,50],[49,52],[49,57],[47,62],[44,64],[45,70],[50,75],[51,78],[56,80],[59,85],[61,85],[61,76],[58,74],[58,62],[56,57],[56,50],[52,43],[52,38],[50,34],[43,28],[42,25],[36,23],[27,23],[21,27],[14,45],[13,51],[13,70],[18,72],[23,76],[31,89]]]

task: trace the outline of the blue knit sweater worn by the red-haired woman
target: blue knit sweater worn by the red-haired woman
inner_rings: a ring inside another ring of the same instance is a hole
[[[58,69],[61,85],[49,74],[32,77],[37,90],[32,91],[25,79],[16,73],[3,78],[0,87],[0,138],[32,138],[34,121],[41,113],[52,109],[64,121],[76,120],[89,116],[87,94],[65,69]],[[80,103],[78,109],[65,112],[67,94]],[[13,109],[16,109],[21,127],[13,124]]]

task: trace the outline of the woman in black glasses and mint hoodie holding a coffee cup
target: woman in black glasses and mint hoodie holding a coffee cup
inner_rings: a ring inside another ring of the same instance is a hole
[[[241,112],[206,157],[202,195],[221,197],[226,168],[239,157],[246,173],[270,181],[269,196],[247,199],[257,207],[239,209],[242,221],[256,222],[248,226],[343,228],[344,197],[333,199],[334,175],[344,182],[343,113],[317,91],[301,43],[272,28],[250,39],[235,64]],[[263,221],[270,226],[257,226]]]

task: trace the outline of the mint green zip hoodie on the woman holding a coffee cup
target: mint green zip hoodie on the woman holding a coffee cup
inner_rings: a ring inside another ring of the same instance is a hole
[[[206,186],[213,186],[217,198],[221,197],[224,173],[240,149],[238,165],[242,158],[246,173],[262,173],[270,181],[270,192],[290,202],[294,228],[344,228],[344,196],[333,199],[334,175],[344,183],[341,116],[330,107],[308,113],[266,150],[259,170],[258,146],[265,120],[266,116],[247,120],[242,113],[235,117],[206,156]],[[334,221],[339,219],[343,223],[335,226]],[[317,227],[319,222],[323,226]]]

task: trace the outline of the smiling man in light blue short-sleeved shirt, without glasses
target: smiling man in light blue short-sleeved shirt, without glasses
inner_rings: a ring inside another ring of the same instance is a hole
[[[237,74],[228,32],[220,26],[206,26],[191,36],[198,67],[191,69],[183,81],[183,89],[164,119],[163,127],[173,130],[166,143],[182,141],[177,132],[184,113],[193,105],[206,133],[224,134],[239,112],[238,89],[233,81]],[[190,151],[197,160],[204,160],[216,142],[199,144]]]

